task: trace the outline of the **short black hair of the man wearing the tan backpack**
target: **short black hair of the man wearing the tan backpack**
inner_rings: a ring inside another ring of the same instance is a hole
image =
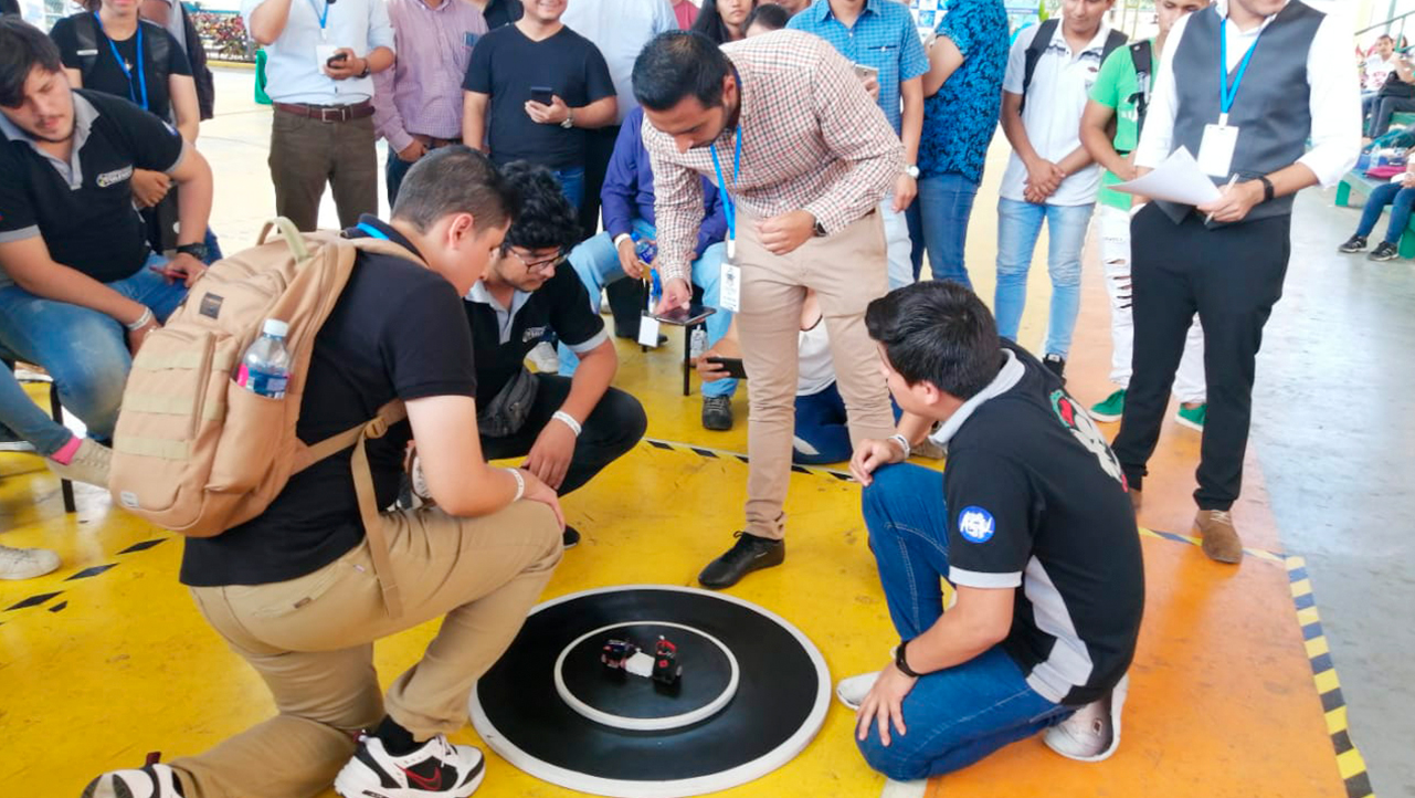
[[[478,229],[499,228],[515,218],[521,200],[487,156],[454,144],[439,147],[403,177],[393,218],[426,232],[437,219],[471,214]]]

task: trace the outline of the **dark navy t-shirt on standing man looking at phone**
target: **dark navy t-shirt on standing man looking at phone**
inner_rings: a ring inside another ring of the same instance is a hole
[[[525,160],[549,168],[583,167],[584,129],[532,122],[525,110],[532,86],[550,89],[570,108],[614,96],[604,57],[570,28],[531,41],[521,28],[504,25],[477,42],[461,83],[468,92],[491,95],[487,129],[498,166]]]

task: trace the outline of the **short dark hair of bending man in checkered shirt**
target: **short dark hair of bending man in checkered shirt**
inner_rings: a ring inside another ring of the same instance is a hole
[[[661,33],[634,59],[634,99],[649,110],[668,110],[689,96],[716,108],[730,69],[732,62],[706,35]]]

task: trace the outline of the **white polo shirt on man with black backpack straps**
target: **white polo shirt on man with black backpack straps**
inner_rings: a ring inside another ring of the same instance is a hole
[[[1037,37],[1032,25],[1017,34],[1007,55],[1007,76],[1002,91],[1022,93],[1022,79],[1027,72],[1027,48]],[[1091,93],[1091,85],[1101,72],[1101,57],[1111,28],[1101,23],[1101,30],[1078,54],[1071,52],[1061,25],[1057,25],[1051,44],[1037,61],[1032,75],[1032,89],[1022,109],[1022,123],[1037,156],[1057,163],[1081,146],[1081,113]],[[1002,197],[1024,202],[1022,192],[1027,184],[1027,167],[1016,153],[1007,160],[1007,171],[1002,175]],[[1101,188],[1101,167],[1092,164],[1061,181],[1061,187],[1047,198],[1047,205],[1088,205],[1095,202]]]

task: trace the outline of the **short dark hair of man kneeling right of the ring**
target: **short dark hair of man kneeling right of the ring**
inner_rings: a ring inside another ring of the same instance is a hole
[[[998,324],[978,294],[952,280],[890,291],[869,304],[865,325],[910,385],[932,382],[968,400],[998,376]]]

